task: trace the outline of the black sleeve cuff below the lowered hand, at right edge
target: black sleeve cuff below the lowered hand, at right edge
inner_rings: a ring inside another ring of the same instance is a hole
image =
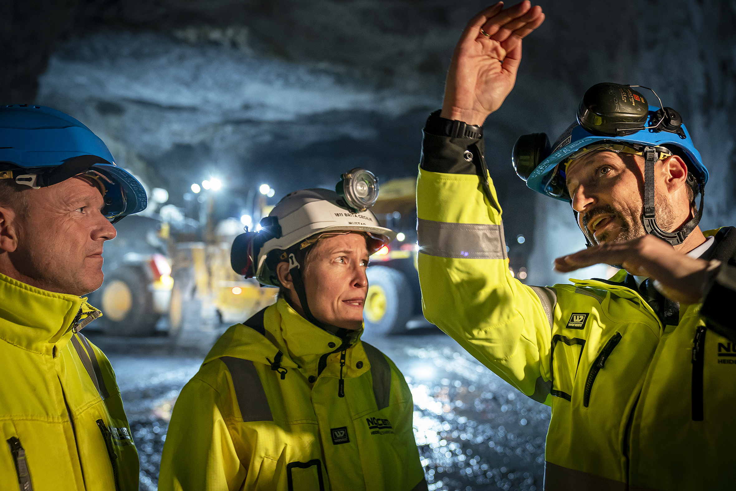
[[[736,266],[722,264],[707,281],[703,298],[700,314],[707,319],[708,327],[736,343],[733,313],[733,305],[736,303]]]

